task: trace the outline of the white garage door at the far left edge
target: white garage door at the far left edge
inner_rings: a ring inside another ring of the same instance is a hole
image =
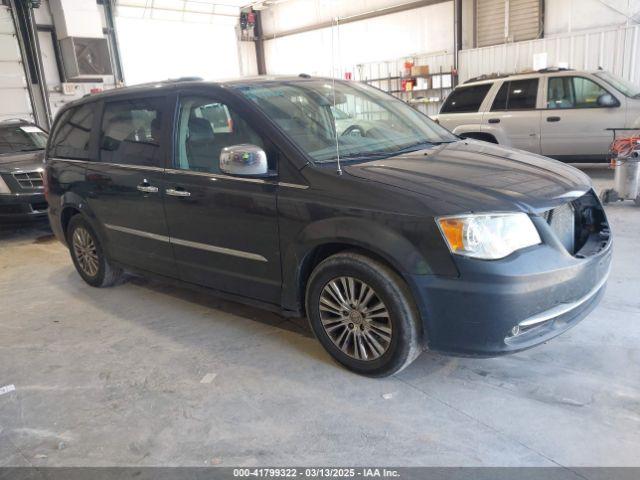
[[[0,121],[33,120],[20,47],[9,7],[0,5]]]

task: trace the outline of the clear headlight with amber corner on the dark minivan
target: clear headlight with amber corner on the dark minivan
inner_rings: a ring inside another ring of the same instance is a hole
[[[436,219],[449,250],[457,255],[496,260],[541,243],[526,213],[489,213]]]

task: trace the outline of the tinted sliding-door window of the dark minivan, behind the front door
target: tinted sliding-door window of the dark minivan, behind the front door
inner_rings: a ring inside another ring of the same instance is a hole
[[[164,99],[106,103],[100,131],[100,161],[160,166]]]

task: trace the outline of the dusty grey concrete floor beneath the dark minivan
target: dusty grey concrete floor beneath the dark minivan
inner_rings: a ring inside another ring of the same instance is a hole
[[[304,321],[143,279],[94,289],[46,229],[5,232],[0,466],[640,466],[640,208],[607,211],[613,273],[579,326],[383,380]]]

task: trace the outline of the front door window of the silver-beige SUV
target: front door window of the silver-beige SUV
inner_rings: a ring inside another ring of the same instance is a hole
[[[551,77],[547,89],[547,108],[597,108],[598,97],[608,93],[584,77]]]

